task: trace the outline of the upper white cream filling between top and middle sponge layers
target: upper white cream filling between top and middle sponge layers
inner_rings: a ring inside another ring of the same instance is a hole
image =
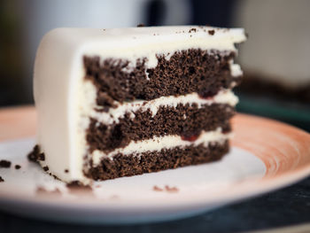
[[[150,101],[145,100],[135,100],[131,102],[126,102],[120,105],[120,103],[115,102],[118,105],[116,108],[110,108],[107,113],[98,112],[95,109],[100,109],[101,107],[96,104],[97,89],[90,81],[85,81],[82,85],[82,89],[85,93],[84,101],[81,102],[81,113],[82,116],[89,119],[89,117],[98,120],[99,122],[105,123],[105,125],[118,123],[120,118],[123,118],[126,113],[130,114],[131,118],[135,117],[135,112],[141,110],[142,112],[151,111],[154,117],[159,110],[160,106],[176,107],[177,105],[198,105],[200,108],[203,105],[212,104],[226,104],[235,106],[238,102],[238,98],[230,89],[222,89],[213,98],[204,99],[198,96],[197,93],[191,93],[184,96],[169,96],[169,97],[159,97]]]

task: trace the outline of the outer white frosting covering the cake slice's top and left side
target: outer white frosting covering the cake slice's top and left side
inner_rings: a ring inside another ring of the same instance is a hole
[[[191,32],[196,28],[196,32]],[[208,30],[215,30],[209,35]],[[184,33],[183,33],[184,32]],[[84,68],[82,57],[147,58],[156,66],[156,54],[175,50],[236,50],[234,43],[245,40],[243,29],[213,27],[135,27],[121,29],[58,28],[43,37],[35,59],[35,105],[38,114],[37,141],[45,153],[43,165],[60,179],[87,182],[82,173],[85,147],[83,119]],[[90,95],[90,96],[89,96]],[[65,173],[65,169],[69,172]]]

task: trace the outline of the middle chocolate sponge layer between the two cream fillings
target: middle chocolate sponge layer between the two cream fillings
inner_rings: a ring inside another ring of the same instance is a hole
[[[150,139],[153,136],[179,135],[184,140],[199,136],[202,130],[210,131],[221,127],[223,132],[230,131],[229,119],[234,114],[230,105],[177,105],[161,106],[153,117],[151,111],[137,111],[131,118],[127,113],[118,123],[105,125],[90,120],[87,130],[89,151],[113,151],[125,147],[132,140]]]

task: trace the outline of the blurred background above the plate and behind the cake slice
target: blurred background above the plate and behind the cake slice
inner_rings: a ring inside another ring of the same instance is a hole
[[[310,1],[2,0],[0,106],[32,105],[35,50],[54,27],[244,27],[237,110],[310,130]]]

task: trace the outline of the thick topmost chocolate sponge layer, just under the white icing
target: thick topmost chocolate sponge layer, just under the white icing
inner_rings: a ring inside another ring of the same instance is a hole
[[[150,100],[162,96],[198,92],[202,97],[228,89],[241,77],[230,74],[233,51],[190,49],[176,51],[171,58],[157,55],[158,64],[147,68],[146,58],[136,64],[128,60],[99,57],[83,58],[85,79],[97,87],[97,105],[112,107],[113,101]]]

